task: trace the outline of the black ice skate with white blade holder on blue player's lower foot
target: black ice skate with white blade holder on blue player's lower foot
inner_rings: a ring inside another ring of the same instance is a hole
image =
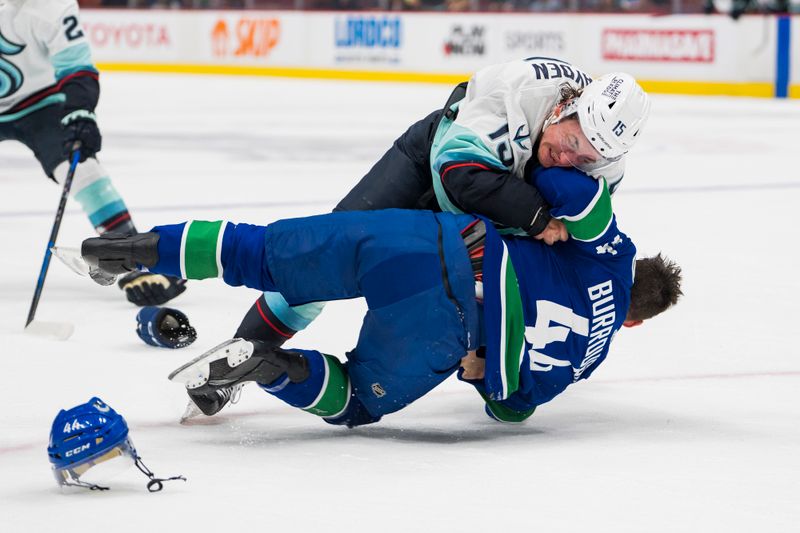
[[[213,403],[210,395],[218,390],[248,381],[269,384],[284,374],[293,383],[304,381],[309,374],[308,361],[299,353],[268,347],[261,341],[231,339],[176,369],[169,379],[183,383],[193,400],[202,394]],[[227,400],[219,403],[221,409]]]

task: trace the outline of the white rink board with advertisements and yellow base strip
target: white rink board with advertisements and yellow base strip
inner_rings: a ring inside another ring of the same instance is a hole
[[[543,56],[653,92],[771,97],[783,84],[797,97],[792,20],[781,38],[774,16],[87,10],[84,29],[103,70],[450,84]]]

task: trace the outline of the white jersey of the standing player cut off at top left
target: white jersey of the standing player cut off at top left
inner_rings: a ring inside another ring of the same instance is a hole
[[[78,71],[97,72],[76,0],[0,0],[0,116]],[[47,95],[36,109],[63,99]]]

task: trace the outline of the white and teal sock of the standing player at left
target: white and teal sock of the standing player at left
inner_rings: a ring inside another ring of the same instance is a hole
[[[63,182],[68,169],[69,164],[65,161],[56,168],[54,174]],[[78,165],[71,192],[97,233],[136,233],[125,202],[97,159],[90,157]]]

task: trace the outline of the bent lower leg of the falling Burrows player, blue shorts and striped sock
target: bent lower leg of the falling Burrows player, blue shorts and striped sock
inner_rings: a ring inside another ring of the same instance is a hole
[[[281,377],[260,385],[331,424],[376,422],[421,398],[458,369],[468,350],[463,313],[444,284],[431,287],[370,309],[346,363],[303,351],[309,369],[306,380],[295,383]]]

